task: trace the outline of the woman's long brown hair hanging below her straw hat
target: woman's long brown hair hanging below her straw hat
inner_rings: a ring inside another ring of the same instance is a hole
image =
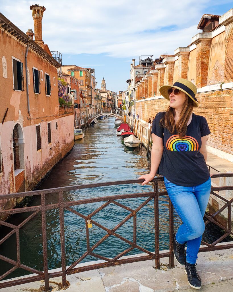
[[[186,101],[183,104],[181,110],[180,118],[175,124],[175,109],[173,107],[168,107],[164,117],[160,120],[160,126],[167,128],[171,134],[177,131],[179,138],[183,139],[187,132],[187,123],[190,118],[191,113],[193,112],[193,101],[186,95]]]

